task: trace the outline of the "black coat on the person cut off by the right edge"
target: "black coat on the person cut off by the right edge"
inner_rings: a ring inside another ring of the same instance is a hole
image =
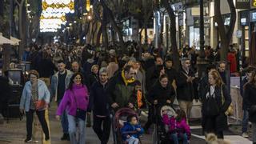
[[[256,106],[256,86],[250,83],[246,84],[243,101],[246,109],[249,110],[250,122],[256,123],[256,113],[250,110],[252,106]]]

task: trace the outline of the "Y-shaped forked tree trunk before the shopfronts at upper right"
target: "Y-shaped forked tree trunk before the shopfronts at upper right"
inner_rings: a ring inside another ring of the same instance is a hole
[[[228,30],[226,30],[224,26],[224,22],[222,19],[222,14],[220,8],[220,0],[215,0],[214,2],[214,12],[215,12],[215,21],[218,23],[218,30],[222,31],[220,34],[221,38],[221,60],[226,61],[227,60],[227,53],[229,50],[229,45],[230,41],[234,32],[234,25],[236,21],[236,11],[234,7],[234,2],[233,0],[227,0],[229,6],[230,6],[230,12],[231,12],[231,17],[230,17],[230,27]]]

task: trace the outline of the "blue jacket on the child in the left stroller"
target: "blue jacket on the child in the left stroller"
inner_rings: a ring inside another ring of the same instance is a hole
[[[137,131],[136,129],[140,128],[141,131]],[[136,133],[133,133],[136,131]],[[129,133],[131,132],[131,133]],[[138,138],[140,135],[144,133],[144,130],[142,126],[140,125],[131,125],[130,122],[125,122],[125,125],[121,128],[121,134],[122,134],[122,140],[126,141],[127,135],[130,135],[130,137]]]

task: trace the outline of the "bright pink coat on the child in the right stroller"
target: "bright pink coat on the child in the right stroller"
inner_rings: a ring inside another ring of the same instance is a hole
[[[162,121],[165,125],[169,126],[170,133],[187,134],[190,139],[191,132],[190,126],[186,123],[186,119],[183,118],[182,121],[178,122],[174,117],[168,118],[167,114],[162,116]]]

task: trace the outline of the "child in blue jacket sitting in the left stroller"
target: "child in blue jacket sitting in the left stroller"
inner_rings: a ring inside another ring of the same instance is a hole
[[[138,124],[137,115],[129,115],[127,122],[121,128],[122,140],[129,144],[138,144],[139,136],[142,135],[144,130]]]

